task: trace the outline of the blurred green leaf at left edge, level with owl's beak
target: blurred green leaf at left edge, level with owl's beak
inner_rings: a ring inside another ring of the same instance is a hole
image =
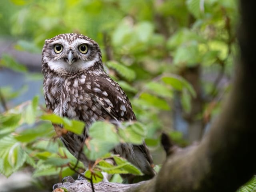
[[[4,66],[6,68],[10,68],[11,70],[17,72],[26,72],[26,66],[19,64],[12,56],[8,54],[2,54],[0,59],[0,66]]]

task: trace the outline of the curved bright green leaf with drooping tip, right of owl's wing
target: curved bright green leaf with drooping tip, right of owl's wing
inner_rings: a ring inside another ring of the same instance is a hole
[[[194,90],[192,85],[190,85],[189,82],[184,78],[172,75],[162,77],[162,80],[164,83],[171,85],[174,89],[178,91],[182,91],[183,88],[186,88],[193,97],[196,97],[196,91]]]

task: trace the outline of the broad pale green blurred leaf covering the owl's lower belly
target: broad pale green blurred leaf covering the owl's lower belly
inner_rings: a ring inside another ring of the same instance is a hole
[[[89,142],[84,147],[84,153],[90,160],[96,160],[107,154],[117,144],[119,138],[116,127],[108,122],[94,122],[89,129]]]

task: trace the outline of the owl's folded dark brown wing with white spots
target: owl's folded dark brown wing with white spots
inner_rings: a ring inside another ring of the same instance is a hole
[[[92,82],[94,100],[98,102],[110,116],[117,121],[136,120],[128,97],[109,76],[97,76]]]

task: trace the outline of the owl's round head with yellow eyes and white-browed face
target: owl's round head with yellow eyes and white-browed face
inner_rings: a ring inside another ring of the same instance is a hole
[[[42,68],[57,74],[74,74],[84,70],[103,70],[100,47],[82,34],[60,34],[45,40]]]

